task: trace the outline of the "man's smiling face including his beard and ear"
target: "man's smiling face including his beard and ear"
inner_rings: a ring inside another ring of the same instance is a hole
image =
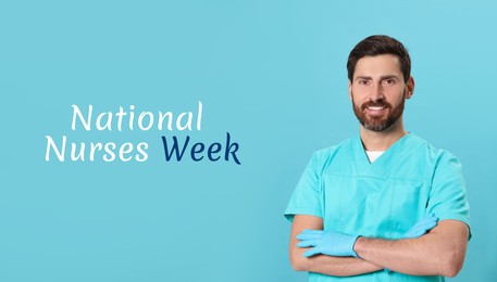
[[[403,81],[396,55],[364,56],[357,62],[349,94],[353,113],[369,130],[383,131],[402,116],[405,99],[412,95],[414,81]]]

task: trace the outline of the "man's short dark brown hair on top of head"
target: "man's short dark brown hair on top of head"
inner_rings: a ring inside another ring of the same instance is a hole
[[[403,75],[403,81],[407,82],[411,76],[411,59],[403,44],[395,38],[384,35],[370,36],[360,41],[350,51],[347,60],[347,73],[350,82],[353,79],[357,62],[363,56],[375,56],[383,54],[393,54],[398,56],[400,62],[400,70]]]

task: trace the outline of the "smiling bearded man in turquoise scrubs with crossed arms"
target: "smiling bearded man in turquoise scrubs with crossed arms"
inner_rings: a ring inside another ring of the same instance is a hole
[[[357,137],[313,154],[285,216],[309,281],[444,281],[462,268],[469,204],[458,159],[406,131],[409,53],[371,36],[347,62]]]

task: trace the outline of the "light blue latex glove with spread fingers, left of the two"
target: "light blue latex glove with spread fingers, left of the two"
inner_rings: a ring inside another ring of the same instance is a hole
[[[358,257],[353,251],[357,235],[348,235],[332,230],[303,230],[297,235],[298,247],[312,247],[303,253],[305,257],[318,254],[337,257]]]

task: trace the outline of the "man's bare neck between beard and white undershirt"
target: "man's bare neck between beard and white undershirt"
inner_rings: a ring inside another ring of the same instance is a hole
[[[408,132],[403,129],[401,118],[383,131],[369,130],[362,125],[360,129],[362,144],[366,151],[386,151],[407,133]]]

